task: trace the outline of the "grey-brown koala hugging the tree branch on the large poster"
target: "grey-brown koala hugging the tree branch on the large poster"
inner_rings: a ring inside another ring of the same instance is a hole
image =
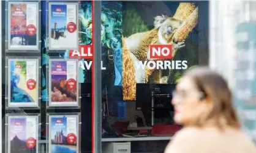
[[[122,46],[126,46],[129,51],[127,53],[123,52],[122,57],[130,58],[129,61],[148,61],[148,60],[158,60],[149,59],[149,46],[152,44],[171,44],[173,51],[179,48],[183,48],[184,42],[173,42],[173,35],[177,29],[183,24],[183,21],[171,18],[165,15],[156,16],[154,18],[154,29],[147,32],[140,32],[137,34],[130,35],[130,37],[124,38]],[[130,63],[134,65],[135,63]],[[132,69],[133,66],[130,66]],[[126,71],[132,71],[132,70]],[[148,77],[152,74],[154,70],[148,69],[135,69],[135,80],[137,83],[148,82]],[[130,79],[129,74],[123,74],[123,82]]]

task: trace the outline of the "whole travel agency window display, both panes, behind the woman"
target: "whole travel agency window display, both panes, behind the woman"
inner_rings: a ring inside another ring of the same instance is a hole
[[[172,119],[172,91],[183,72],[200,65],[208,52],[206,38],[201,38],[208,37],[208,29],[200,24],[203,16],[208,18],[201,12],[207,3],[102,1],[99,7],[94,1],[5,3],[3,114],[28,115],[7,120],[6,128],[10,133],[23,128],[17,132],[21,139],[34,124],[39,130],[36,137],[24,140],[26,149],[21,149],[96,153],[94,144],[103,144],[102,150],[105,144],[121,144],[121,152],[163,151],[181,129]],[[99,24],[92,25],[96,21]],[[40,121],[32,123],[31,113],[40,114]],[[12,153],[12,147],[8,149],[4,151]]]

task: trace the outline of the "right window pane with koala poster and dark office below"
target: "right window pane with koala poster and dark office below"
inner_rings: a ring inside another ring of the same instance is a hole
[[[172,91],[208,65],[208,1],[102,1],[102,152],[163,152]],[[96,11],[96,10],[95,10]]]

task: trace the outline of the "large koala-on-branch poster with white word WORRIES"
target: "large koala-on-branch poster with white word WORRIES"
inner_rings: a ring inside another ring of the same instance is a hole
[[[135,99],[137,83],[175,84],[198,65],[198,4],[122,2],[122,8],[124,100]],[[152,45],[171,45],[171,59],[150,59]]]

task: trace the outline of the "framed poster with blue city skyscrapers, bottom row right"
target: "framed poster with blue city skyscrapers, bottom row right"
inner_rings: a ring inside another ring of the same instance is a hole
[[[49,116],[49,153],[78,152],[78,116]]]

